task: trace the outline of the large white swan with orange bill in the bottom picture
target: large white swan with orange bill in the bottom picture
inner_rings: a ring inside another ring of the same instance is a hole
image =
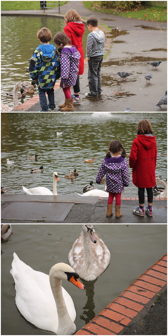
[[[51,267],[49,276],[21,261],[13,253],[10,273],[15,281],[15,302],[24,318],[36,327],[56,335],[73,335],[76,311],[71,296],[61,287],[61,280],[85,289],[74,269],[58,263]]]

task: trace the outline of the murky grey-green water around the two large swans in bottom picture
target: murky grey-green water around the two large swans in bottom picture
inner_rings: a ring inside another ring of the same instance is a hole
[[[85,290],[62,280],[71,295],[77,330],[93,319],[143,272],[156,263],[167,248],[167,225],[96,224],[95,232],[111,253],[108,268],[94,281],[83,281]],[[13,234],[1,244],[1,334],[51,335],[40,330],[17,310],[14,280],[10,274],[13,252],[33,269],[49,274],[58,263],[68,263],[68,253],[81,232],[79,224],[12,224]]]

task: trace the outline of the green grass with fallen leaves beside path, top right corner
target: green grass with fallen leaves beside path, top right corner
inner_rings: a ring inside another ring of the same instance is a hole
[[[95,1],[83,1],[83,5],[90,9],[94,10],[95,12],[101,12],[101,13],[107,13],[112,15],[119,15],[129,18],[135,18],[138,20],[145,20],[145,21],[156,21],[156,22],[167,22],[167,8],[166,7],[160,7],[160,6],[151,6],[146,7],[144,9],[140,10],[131,10],[127,12],[116,12],[116,10],[113,9],[102,9],[100,6],[95,6]]]

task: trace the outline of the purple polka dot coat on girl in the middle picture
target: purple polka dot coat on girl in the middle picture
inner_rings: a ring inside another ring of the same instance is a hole
[[[100,183],[106,174],[106,185],[111,193],[122,193],[124,184],[129,184],[128,163],[124,158],[120,163],[107,163],[105,160],[96,176],[96,182]]]

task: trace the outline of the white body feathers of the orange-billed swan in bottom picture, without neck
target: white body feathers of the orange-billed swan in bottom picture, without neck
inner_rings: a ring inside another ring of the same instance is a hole
[[[17,308],[25,319],[36,327],[56,333],[58,316],[49,276],[25,264],[16,253],[13,253],[13,257],[10,273],[15,281]],[[62,294],[74,322],[76,311],[73,300],[63,287]]]

